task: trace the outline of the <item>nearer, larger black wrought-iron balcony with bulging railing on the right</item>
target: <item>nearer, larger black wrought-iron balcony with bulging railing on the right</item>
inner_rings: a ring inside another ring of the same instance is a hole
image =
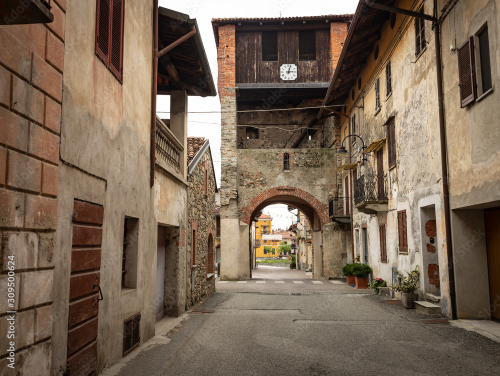
[[[354,207],[365,214],[387,210],[387,174],[361,175],[354,181]]]

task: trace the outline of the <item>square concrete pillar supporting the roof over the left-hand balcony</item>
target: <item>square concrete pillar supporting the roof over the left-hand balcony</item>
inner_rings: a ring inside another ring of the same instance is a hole
[[[170,93],[170,130],[180,143],[184,145],[184,151],[180,157],[180,173],[186,178],[187,93],[185,90],[174,90]]]

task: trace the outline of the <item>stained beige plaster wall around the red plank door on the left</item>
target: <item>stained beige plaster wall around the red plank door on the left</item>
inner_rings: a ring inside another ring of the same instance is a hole
[[[122,83],[95,55],[95,10],[95,1],[67,3],[54,304],[59,322],[67,322],[73,198],[99,203],[99,372],[122,357],[125,318],[141,313],[141,342],[154,334],[157,226],[149,187],[152,3],[125,2]],[[121,288],[125,215],[138,218],[136,288]],[[65,369],[66,328],[53,329],[54,374]]]

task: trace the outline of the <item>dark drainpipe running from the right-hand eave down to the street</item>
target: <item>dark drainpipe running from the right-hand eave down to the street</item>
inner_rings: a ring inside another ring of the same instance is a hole
[[[444,123],[444,97],[442,92],[442,64],[441,64],[441,43],[439,38],[439,22],[436,17],[428,14],[418,13],[411,10],[396,8],[392,6],[377,4],[370,0],[364,0],[366,5],[387,10],[393,13],[400,13],[410,17],[425,19],[432,21],[434,27],[434,44],[436,54],[436,78],[437,78],[437,103],[439,114],[439,138],[441,148],[441,171],[442,171],[442,195],[444,206],[444,227],[446,236],[446,255],[448,259],[448,281],[449,281],[449,298],[451,304],[451,318],[455,320],[456,316],[456,293],[455,293],[455,275],[453,266],[453,248],[451,245],[451,224],[450,224],[450,209],[449,209],[449,196],[448,196],[448,167],[446,155],[446,127]],[[435,0],[434,0],[435,2]]]

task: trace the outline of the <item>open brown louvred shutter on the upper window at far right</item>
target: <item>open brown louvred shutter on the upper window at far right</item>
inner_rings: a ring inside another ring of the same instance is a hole
[[[458,86],[460,107],[463,108],[477,98],[474,66],[474,38],[470,36],[458,47]]]

